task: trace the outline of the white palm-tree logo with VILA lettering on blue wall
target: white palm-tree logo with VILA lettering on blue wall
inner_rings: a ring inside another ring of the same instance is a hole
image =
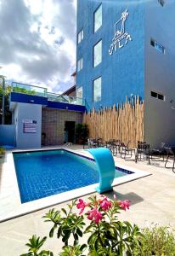
[[[127,16],[129,15],[128,10],[126,9],[121,14],[121,19],[116,21],[115,24],[115,36],[112,39],[112,44],[110,44],[109,54],[113,55],[114,51],[117,49],[121,49],[125,46],[128,41],[132,41],[131,35],[125,31],[125,22],[127,20]]]

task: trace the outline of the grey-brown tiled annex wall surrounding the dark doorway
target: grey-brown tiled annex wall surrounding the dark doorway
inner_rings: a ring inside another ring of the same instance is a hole
[[[42,108],[42,145],[59,145],[64,143],[65,121],[82,123],[82,113],[69,110]]]

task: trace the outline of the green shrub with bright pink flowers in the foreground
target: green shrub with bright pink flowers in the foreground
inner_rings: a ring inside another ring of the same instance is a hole
[[[133,247],[140,244],[143,235],[137,225],[118,220],[120,209],[128,208],[129,201],[92,196],[88,201],[72,201],[68,209],[49,210],[43,218],[51,224],[49,237],[56,236],[64,243],[59,256],[122,256],[125,253],[133,256]],[[77,209],[79,213],[76,213]],[[88,234],[88,240],[80,244],[84,234]],[[28,253],[21,256],[53,256],[50,251],[40,251],[45,240],[46,237],[41,240],[33,236],[26,244]],[[85,250],[87,253],[83,254]]]

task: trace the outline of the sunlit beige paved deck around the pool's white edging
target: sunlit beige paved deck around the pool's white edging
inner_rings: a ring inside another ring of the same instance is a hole
[[[72,149],[77,149],[80,153],[82,151],[80,146],[74,146]],[[115,157],[115,162],[128,166],[128,168],[144,170],[152,174],[130,183],[115,186],[114,191],[107,194],[110,199],[116,194],[119,200],[131,201],[130,210],[121,212],[119,218],[131,221],[140,227],[152,223],[174,226],[175,174],[172,169],[165,169],[163,163],[155,161],[151,162],[151,166],[149,166],[143,161],[138,161],[135,164],[134,161]],[[86,199],[88,196],[86,195],[84,198]],[[59,204],[55,207],[59,209],[65,204]],[[21,253],[26,253],[25,243],[33,234],[48,236],[50,225],[43,223],[42,216],[48,212],[49,208],[51,207],[1,223],[0,255],[19,256]],[[51,249],[56,255],[60,252],[61,246],[61,241],[48,238],[45,248]]]

